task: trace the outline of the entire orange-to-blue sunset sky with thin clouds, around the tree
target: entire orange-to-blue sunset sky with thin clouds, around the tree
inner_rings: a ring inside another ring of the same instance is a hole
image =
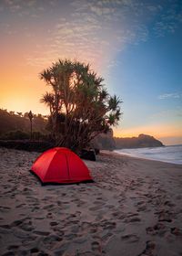
[[[182,144],[182,1],[0,0],[0,108],[47,114],[39,74],[91,64],[122,99],[116,136]]]

